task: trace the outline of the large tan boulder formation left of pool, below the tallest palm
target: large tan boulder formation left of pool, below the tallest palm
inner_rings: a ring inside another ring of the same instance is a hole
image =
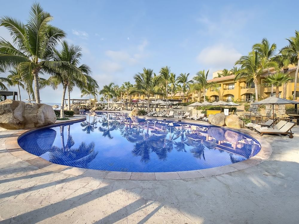
[[[0,127],[16,130],[54,124],[56,115],[50,105],[7,99],[0,102]]]

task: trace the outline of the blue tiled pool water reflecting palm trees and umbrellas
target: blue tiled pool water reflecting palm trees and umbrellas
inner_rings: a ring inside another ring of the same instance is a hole
[[[259,142],[236,131],[126,113],[97,113],[83,122],[39,129],[19,138],[19,145],[61,165],[128,172],[212,168],[260,151]]]

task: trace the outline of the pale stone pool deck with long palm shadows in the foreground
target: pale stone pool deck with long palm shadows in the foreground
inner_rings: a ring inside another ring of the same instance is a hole
[[[263,136],[271,156],[240,171],[194,179],[115,180],[79,168],[33,166],[4,147],[18,131],[1,129],[0,224],[298,223],[299,128],[293,131],[293,139]]]

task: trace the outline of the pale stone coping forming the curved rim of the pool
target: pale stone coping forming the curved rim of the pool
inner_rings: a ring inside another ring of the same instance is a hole
[[[141,117],[140,118],[147,118]],[[150,119],[152,119],[150,117]],[[210,177],[215,175],[221,174],[228,174],[240,170],[244,170],[255,165],[260,164],[261,162],[269,159],[272,154],[272,147],[271,145],[265,140],[262,139],[259,135],[244,129],[244,128],[227,128],[225,129],[238,131],[244,133],[246,135],[251,136],[252,138],[256,139],[260,145],[260,151],[253,157],[246,159],[241,162],[237,162],[230,165],[215,167],[215,168],[208,168],[202,170],[193,170],[193,171],[178,171],[178,172],[155,172],[155,173],[137,173],[137,172],[118,172],[118,171],[100,171],[100,170],[91,170],[85,168],[77,168],[65,165],[59,165],[52,162],[49,162],[41,157],[36,155],[30,154],[29,152],[22,149],[18,144],[18,139],[28,134],[32,131],[43,129],[43,128],[51,128],[55,126],[59,126],[61,124],[68,124],[68,123],[77,123],[86,120],[86,116],[81,116],[78,119],[72,119],[71,121],[61,121],[58,123],[54,123],[52,125],[47,125],[41,128],[32,128],[26,130],[20,130],[15,134],[12,134],[8,137],[4,142],[5,149],[12,154],[14,157],[22,159],[31,165],[45,170],[45,171],[53,171],[53,172],[61,172],[64,174],[79,176],[82,175],[83,177],[94,177],[94,178],[103,178],[103,179],[120,179],[120,180],[174,180],[174,179],[193,179],[193,178],[203,178],[203,177]],[[157,119],[163,120],[163,119]],[[183,121],[186,123],[192,124],[207,124],[206,122],[196,122],[196,121]],[[212,125],[213,126],[213,125]],[[254,134],[254,136],[252,136]]]

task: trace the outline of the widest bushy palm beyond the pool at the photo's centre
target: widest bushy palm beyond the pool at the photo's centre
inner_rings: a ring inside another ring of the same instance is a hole
[[[130,89],[130,93],[139,93],[147,97],[147,110],[149,111],[149,97],[154,94],[159,94],[155,91],[155,79],[153,77],[153,70],[143,68],[142,73],[137,73],[134,76],[136,86]]]

